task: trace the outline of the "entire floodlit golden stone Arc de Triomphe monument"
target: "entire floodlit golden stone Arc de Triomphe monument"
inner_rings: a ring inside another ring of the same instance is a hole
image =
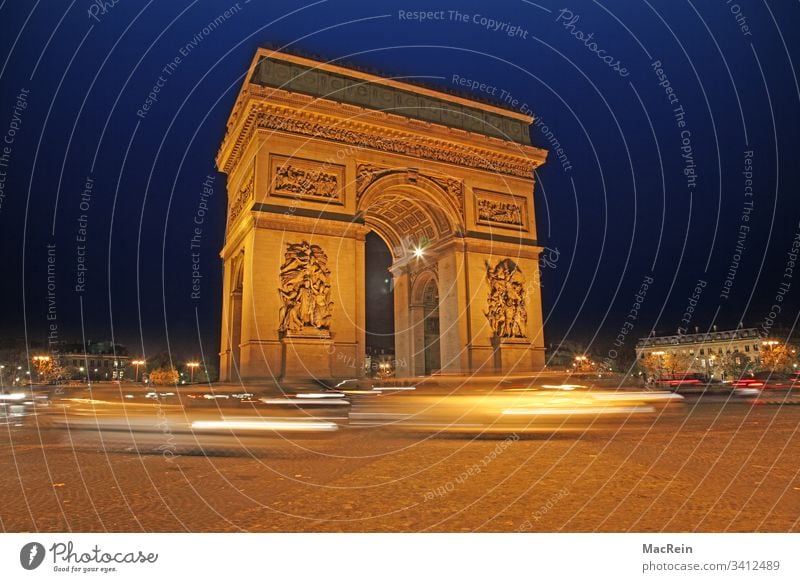
[[[364,241],[392,253],[397,374],[544,362],[531,118],[259,50],[228,174],[223,380],[364,373]]]

